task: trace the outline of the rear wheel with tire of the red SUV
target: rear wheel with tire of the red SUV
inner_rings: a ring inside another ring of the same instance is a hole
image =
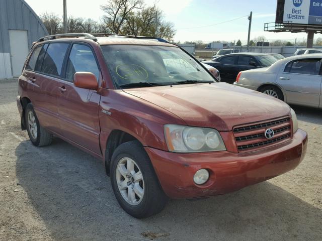
[[[29,103],[25,110],[26,128],[31,143],[37,147],[51,144],[52,135],[40,126],[32,103]]]

